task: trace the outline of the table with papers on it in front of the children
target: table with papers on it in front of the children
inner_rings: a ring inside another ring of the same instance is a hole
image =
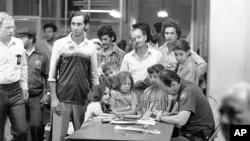
[[[123,127],[142,127],[142,125],[119,125]],[[147,134],[124,130],[114,130],[115,124],[90,122],[66,137],[69,141],[170,141],[174,125],[159,122],[149,126],[149,130],[160,130],[161,134]]]

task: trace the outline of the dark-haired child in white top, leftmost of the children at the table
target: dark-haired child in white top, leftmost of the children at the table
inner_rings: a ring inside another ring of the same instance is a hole
[[[85,112],[84,123],[95,116],[115,117],[114,114],[109,113],[109,91],[109,88],[104,85],[96,85],[92,88],[88,95],[89,104],[87,106],[87,111]]]

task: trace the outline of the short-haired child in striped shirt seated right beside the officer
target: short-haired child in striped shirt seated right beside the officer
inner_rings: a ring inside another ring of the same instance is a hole
[[[144,115],[146,111],[152,112],[153,115],[156,115],[158,112],[164,115],[170,112],[177,112],[178,104],[175,100],[176,98],[167,95],[156,85],[158,73],[163,69],[164,66],[161,64],[155,64],[147,69],[151,86],[142,95],[143,100],[138,107],[138,115]]]

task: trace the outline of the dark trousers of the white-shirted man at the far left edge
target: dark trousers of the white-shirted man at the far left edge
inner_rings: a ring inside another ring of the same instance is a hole
[[[13,141],[26,141],[25,105],[20,83],[0,84],[0,141],[3,141],[6,117],[11,123]]]

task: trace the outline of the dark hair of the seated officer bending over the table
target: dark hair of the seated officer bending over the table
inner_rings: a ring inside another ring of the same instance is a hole
[[[172,81],[176,81],[178,83],[181,82],[181,78],[178,76],[178,74],[168,69],[163,69],[160,71],[159,79],[168,87],[171,87]]]

